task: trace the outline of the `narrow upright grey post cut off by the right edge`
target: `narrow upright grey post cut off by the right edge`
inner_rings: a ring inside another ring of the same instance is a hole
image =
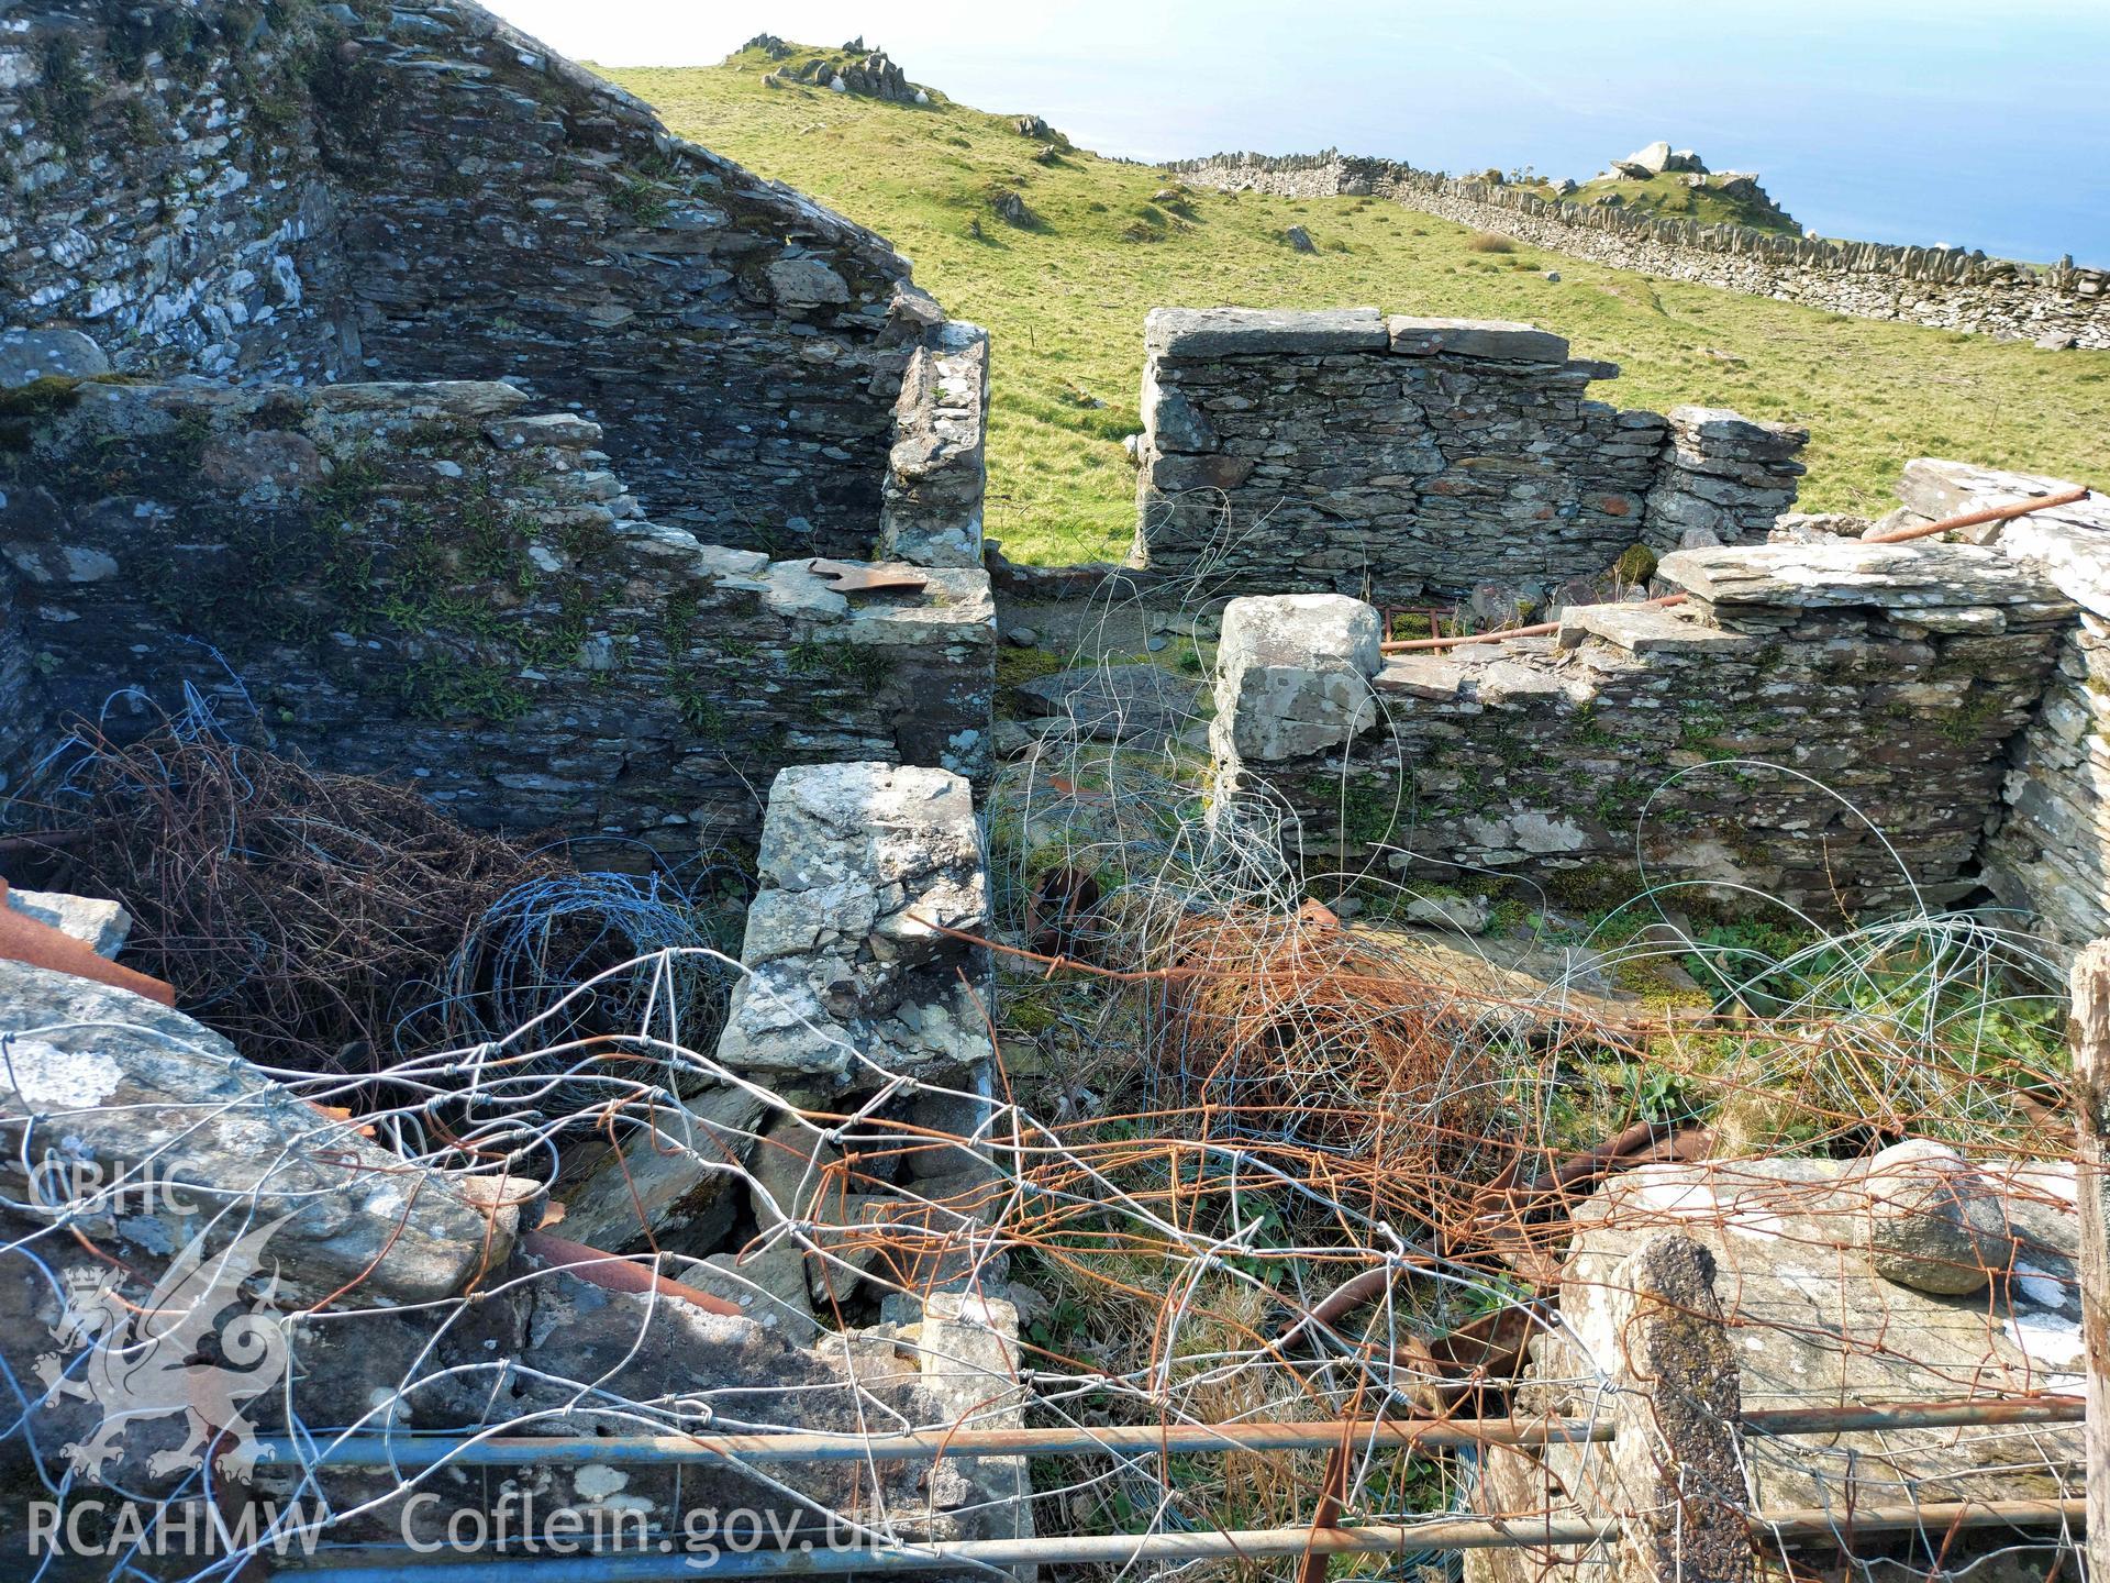
[[[2072,973],[2074,1117],[2080,1123],[2080,1340],[2089,1368],[2089,1577],[2110,1579],[2110,939]]]

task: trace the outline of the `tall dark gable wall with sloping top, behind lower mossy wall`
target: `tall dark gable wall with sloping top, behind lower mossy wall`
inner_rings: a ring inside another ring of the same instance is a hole
[[[912,350],[878,236],[466,0],[38,0],[0,34],[0,323],[129,374],[506,380],[654,519],[869,555]]]

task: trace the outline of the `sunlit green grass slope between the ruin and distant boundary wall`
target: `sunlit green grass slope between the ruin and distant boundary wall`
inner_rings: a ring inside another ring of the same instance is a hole
[[[762,87],[760,51],[715,68],[612,70],[686,137],[871,226],[960,319],[990,327],[990,532],[1021,559],[1127,551],[1144,314],[1154,306],[1528,319],[1625,376],[1629,407],[1703,401],[1812,431],[1810,509],[1886,511],[1912,456],[2110,481],[2110,352],[2038,352],[1842,319],[1509,247],[1369,198],[1156,201],[1160,171],[1059,152],[1013,116]],[[1025,110],[1030,106],[1019,106]],[[1025,226],[996,215],[1019,194]],[[1304,226],[1317,253],[1283,239]],[[1559,268],[1561,281],[1542,276]]]

